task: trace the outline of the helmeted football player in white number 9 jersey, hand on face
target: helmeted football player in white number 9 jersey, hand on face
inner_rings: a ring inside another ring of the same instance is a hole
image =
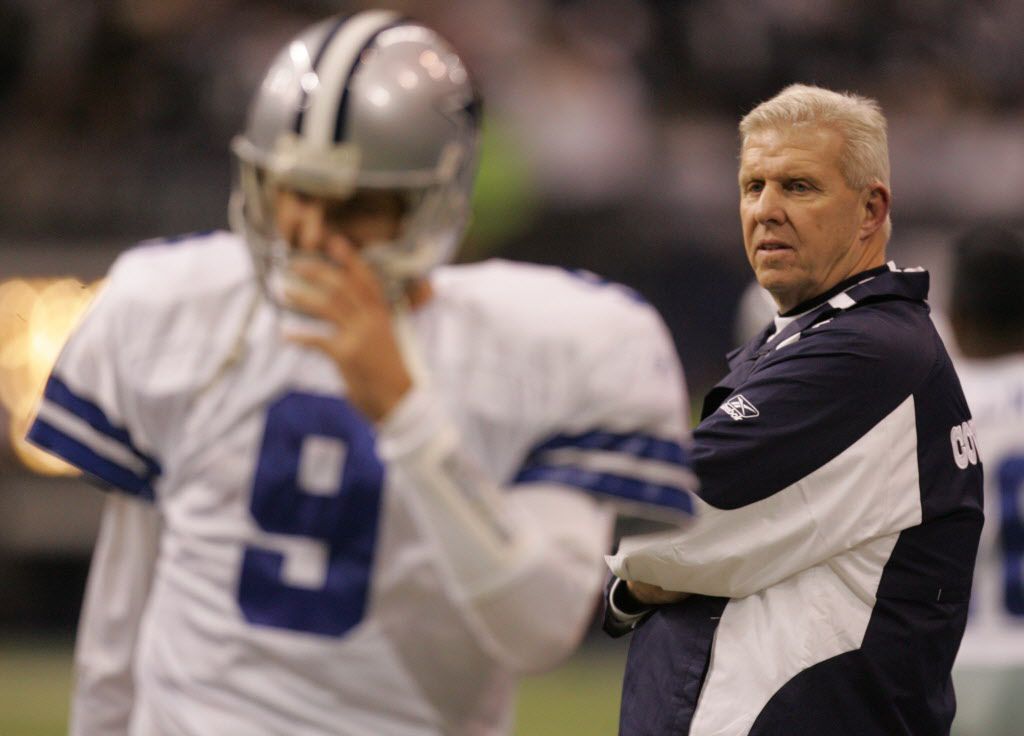
[[[504,734],[621,517],[689,518],[687,399],[632,291],[446,266],[480,102],[387,11],[286,46],[233,233],[124,254],[30,431],[110,486],[73,734]]]

